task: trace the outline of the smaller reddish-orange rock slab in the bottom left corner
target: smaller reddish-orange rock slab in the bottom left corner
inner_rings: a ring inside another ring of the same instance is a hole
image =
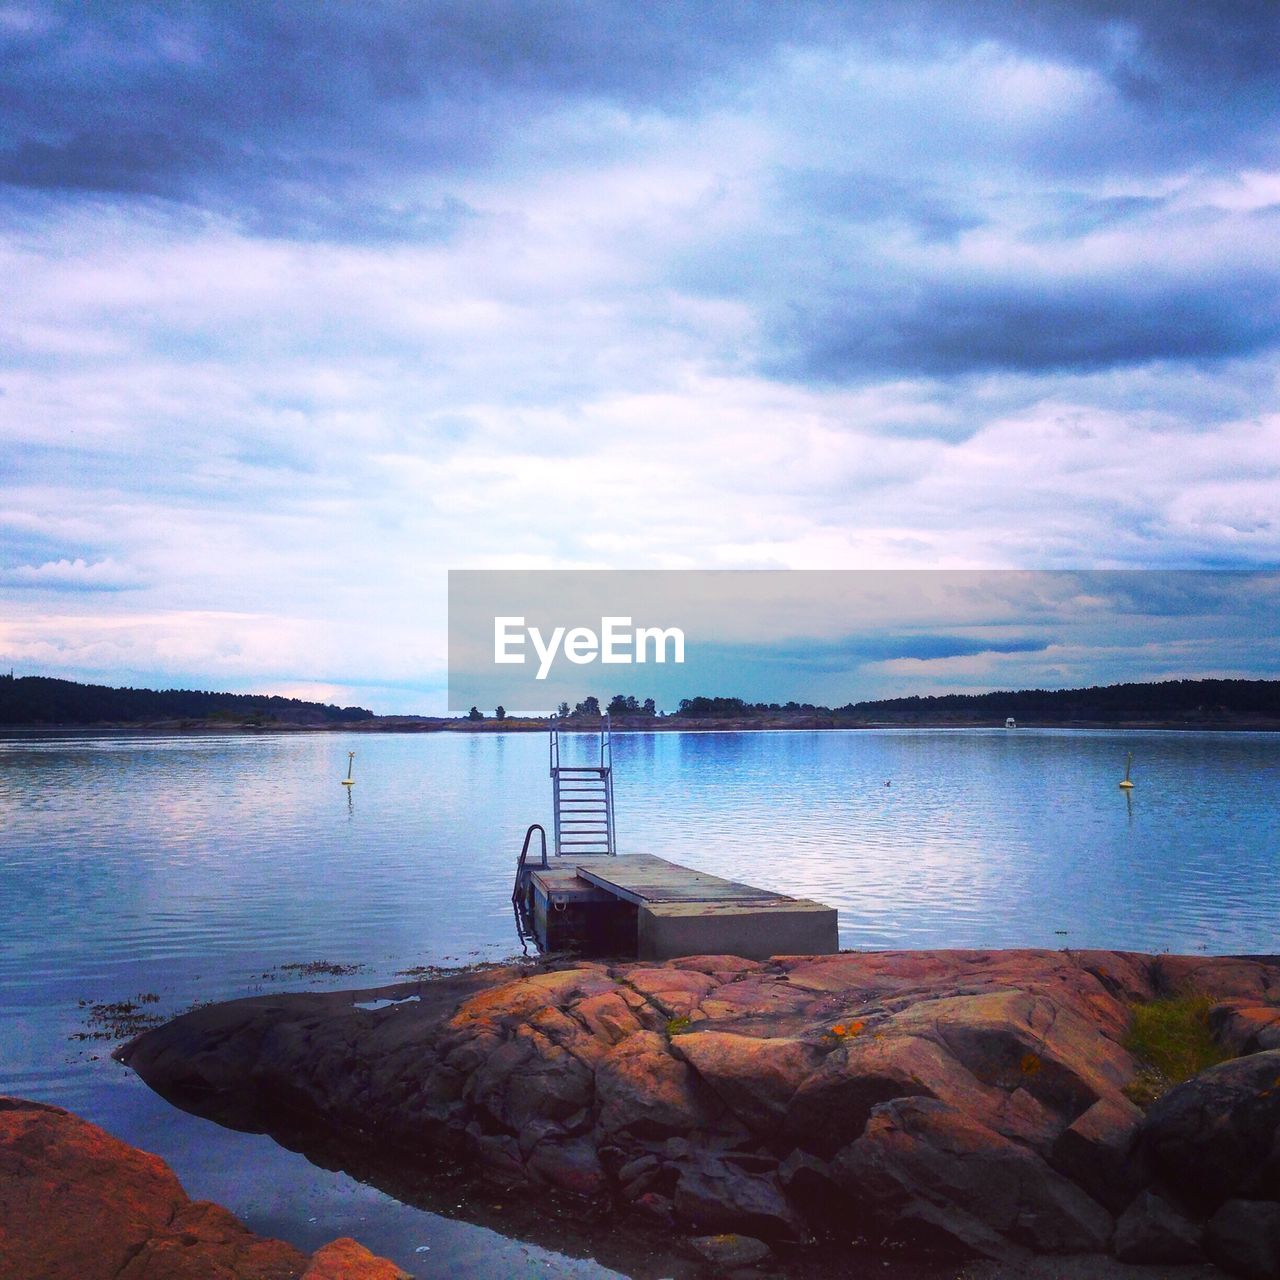
[[[408,1280],[351,1239],[311,1256],[192,1201],[159,1156],[0,1097],[0,1280]]]

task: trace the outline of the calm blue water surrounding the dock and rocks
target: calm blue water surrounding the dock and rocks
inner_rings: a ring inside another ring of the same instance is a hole
[[[621,851],[829,902],[845,947],[1280,951],[1276,733],[620,735],[614,773]],[[543,735],[0,739],[0,1092],[159,1152],[305,1248],[351,1234],[419,1276],[612,1274],[187,1116],[91,1020],[518,951]]]

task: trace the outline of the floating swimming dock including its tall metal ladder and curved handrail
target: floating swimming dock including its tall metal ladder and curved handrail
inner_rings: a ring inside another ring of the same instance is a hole
[[[516,863],[511,901],[521,941],[543,951],[671,960],[690,955],[831,955],[840,950],[836,909],[740,881],[680,867],[652,854],[617,852],[613,827],[613,744],[600,722],[599,756],[561,760],[550,731],[556,856],[534,823]],[[539,861],[530,860],[535,833]]]

